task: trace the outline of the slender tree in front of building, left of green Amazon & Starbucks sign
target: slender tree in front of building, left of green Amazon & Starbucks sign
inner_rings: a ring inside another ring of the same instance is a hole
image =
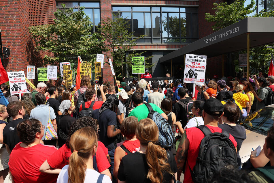
[[[114,14],[117,17],[117,14]],[[119,17],[119,16],[118,16]],[[131,57],[139,56],[141,53],[136,53],[132,49],[136,46],[136,40],[145,37],[145,35],[133,38],[133,32],[131,30],[130,21],[127,18],[107,18],[101,20],[99,25],[99,31],[103,38],[105,38],[105,44],[108,47],[107,52],[112,56],[114,63],[114,70],[118,77],[124,77],[127,68],[131,68]],[[130,52],[126,57],[126,52]],[[147,62],[151,57],[145,58],[145,66],[152,67],[153,64]]]

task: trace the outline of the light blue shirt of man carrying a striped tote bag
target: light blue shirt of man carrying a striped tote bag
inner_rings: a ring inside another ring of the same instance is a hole
[[[50,113],[49,113],[49,108],[50,108]],[[45,125],[44,137],[42,138],[42,140],[45,140],[48,120],[49,118],[51,120],[56,118],[53,108],[44,104],[37,105],[37,107],[31,110],[29,119],[31,118],[38,119],[42,123],[42,125]]]

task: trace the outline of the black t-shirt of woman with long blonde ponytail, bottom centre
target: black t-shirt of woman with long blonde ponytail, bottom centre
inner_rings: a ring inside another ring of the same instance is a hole
[[[171,160],[171,171],[174,173],[177,172],[177,165],[174,159],[174,156],[171,152],[169,153]],[[148,183],[151,182],[147,179],[148,174],[148,164],[146,162],[145,154],[140,152],[135,152],[133,154],[128,154],[124,156],[121,160],[119,170],[118,170],[118,179],[120,181],[126,181],[131,183]],[[169,173],[163,174],[163,182],[170,182],[172,175]]]

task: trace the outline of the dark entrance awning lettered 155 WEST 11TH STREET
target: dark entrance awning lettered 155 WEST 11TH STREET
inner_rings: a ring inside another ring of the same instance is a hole
[[[274,42],[274,18],[248,17],[209,36],[199,39],[159,59],[160,63],[184,62],[183,55],[197,54],[215,57],[229,52],[247,49],[247,33],[250,48]]]

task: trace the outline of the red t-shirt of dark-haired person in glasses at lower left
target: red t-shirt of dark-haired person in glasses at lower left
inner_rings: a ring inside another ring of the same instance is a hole
[[[20,143],[12,150],[9,160],[9,168],[14,182],[56,182],[57,174],[48,174],[39,171],[40,166],[47,157],[56,152],[56,147],[37,144],[24,148],[20,146]]]

